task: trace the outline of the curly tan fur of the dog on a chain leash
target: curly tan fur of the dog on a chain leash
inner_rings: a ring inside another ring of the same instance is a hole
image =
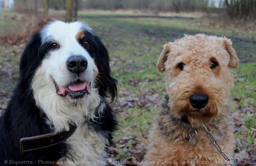
[[[211,62],[217,62],[211,68]],[[185,64],[183,69],[179,64]],[[228,91],[233,82],[229,68],[238,67],[232,42],[225,37],[185,35],[169,42],[157,63],[157,70],[166,75],[167,96],[159,111],[145,156],[149,165],[219,166],[225,159],[209,140],[205,124],[228,157],[235,148],[234,128],[228,108]],[[189,98],[207,95],[204,108],[194,108]],[[190,124],[180,119],[187,116]],[[196,128],[197,139],[189,145],[189,130]]]

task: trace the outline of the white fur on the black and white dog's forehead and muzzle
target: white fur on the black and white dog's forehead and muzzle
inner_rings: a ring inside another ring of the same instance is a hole
[[[93,70],[97,68],[92,57],[79,44],[76,37],[78,32],[83,29],[88,32],[92,31],[81,22],[64,23],[56,21],[47,25],[41,32],[42,43],[55,42],[59,46],[58,49],[50,51],[42,62],[42,67],[45,68],[47,76],[52,77],[47,79],[53,79],[57,85],[67,88],[74,81],[70,80],[72,73],[67,69],[67,59],[79,55],[85,57],[88,61],[87,68],[83,72],[83,79],[86,80],[86,83],[70,86],[69,89],[74,91],[79,90],[82,86],[84,88],[88,86],[88,83],[93,79]]]

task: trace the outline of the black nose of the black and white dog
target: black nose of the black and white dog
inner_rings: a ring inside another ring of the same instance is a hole
[[[67,59],[67,69],[72,73],[81,73],[87,68],[87,59],[81,55],[74,55]]]

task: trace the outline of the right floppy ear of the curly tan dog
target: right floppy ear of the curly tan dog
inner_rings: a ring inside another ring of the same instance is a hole
[[[228,52],[229,55],[229,63],[228,63],[228,67],[229,68],[237,68],[239,66],[239,60],[237,58],[237,54],[234,50],[234,48],[232,47],[232,42],[227,39],[226,37],[223,38],[223,46],[225,48],[225,50]]]

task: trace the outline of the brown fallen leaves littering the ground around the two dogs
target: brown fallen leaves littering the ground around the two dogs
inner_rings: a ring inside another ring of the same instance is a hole
[[[2,57],[0,62],[0,114],[7,108],[8,100],[11,95],[11,91],[17,82],[17,73],[18,73],[18,60],[21,55],[22,49],[28,42],[31,35],[37,32],[46,24],[48,20],[36,19],[36,20],[26,20],[26,25],[22,25],[22,28],[28,31],[24,33],[16,32],[13,30],[12,35],[5,33],[0,35],[0,57]],[[14,20],[19,22],[20,20]],[[21,21],[20,21],[21,22]],[[22,20],[24,22],[24,20]],[[29,28],[28,28],[29,27]],[[9,47],[14,47],[15,49],[9,50]],[[148,52],[148,50],[146,51]],[[134,51],[134,54],[137,56],[140,55],[138,51]],[[10,56],[15,57],[11,59]],[[111,66],[114,66],[116,63],[128,63],[129,65],[133,64],[133,61],[125,61],[125,59],[115,56],[111,59]],[[143,69],[140,69],[139,73],[144,73]],[[117,74],[118,76],[118,74]],[[246,78],[236,78],[235,81],[244,81]],[[156,80],[147,80],[148,82]],[[122,80],[120,80],[121,83]],[[7,84],[10,84],[8,86]],[[136,78],[131,78],[127,84],[131,86],[138,86],[140,81]],[[165,93],[165,90],[160,90],[162,93]],[[159,92],[159,91],[158,91]],[[135,93],[132,90],[126,88],[121,88],[119,91],[119,98],[117,102],[112,105],[114,112],[119,115],[118,120],[125,121],[130,115],[126,112],[129,108],[145,108],[152,105],[161,105],[162,97],[157,93],[156,90],[152,88],[140,88],[140,93]],[[248,132],[250,131],[245,125],[244,115],[253,116],[255,114],[255,105],[247,105],[247,107],[242,107],[238,104],[241,100],[241,97],[231,98],[232,105],[237,108],[237,111],[233,111],[233,117],[235,121],[235,131],[243,130],[245,132],[239,133],[236,137],[238,149],[235,150],[235,158],[238,160],[238,166],[253,166],[256,164],[256,142],[253,143],[251,148],[248,148],[248,142],[244,139],[247,137]],[[133,126],[138,126],[138,122],[133,122]],[[252,137],[256,137],[256,126],[251,128]],[[140,166],[143,165],[140,161],[143,161],[143,157],[146,153],[146,147],[148,144],[147,136],[127,136],[125,135],[119,140],[115,140],[114,144],[109,147],[108,152],[110,157],[108,161],[126,161],[126,164],[112,164],[114,166]],[[248,150],[249,149],[249,150]],[[128,163],[129,162],[129,163]]]

